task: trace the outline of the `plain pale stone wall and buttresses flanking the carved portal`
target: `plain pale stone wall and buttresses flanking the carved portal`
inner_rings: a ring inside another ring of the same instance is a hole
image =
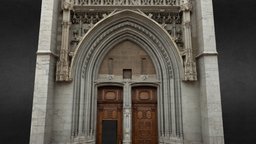
[[[193,1],[193,47],[199,81],[182,82],[184,144],[224,144],[211,0]],[[55,82],[60,0],[43,0],[31,123],[31,144],[71,143],[73,83]],[[195,19],[193,19],[195,18]]]

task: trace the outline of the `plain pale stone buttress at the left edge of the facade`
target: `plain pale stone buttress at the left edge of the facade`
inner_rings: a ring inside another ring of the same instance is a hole
[[[57,0],[42,1],[30,144],[49,144],[51,138],[57,8]]]

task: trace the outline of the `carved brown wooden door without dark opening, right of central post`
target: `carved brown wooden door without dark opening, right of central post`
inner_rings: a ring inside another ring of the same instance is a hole
[[[133,144],[157,144],[156,88],[136,87],[132,91]]]

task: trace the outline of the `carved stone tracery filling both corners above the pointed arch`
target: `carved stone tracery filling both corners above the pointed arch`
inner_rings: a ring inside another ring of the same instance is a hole
[[[70,35],[70,55],[73,55],[81,38],[98,21],[103,19],[109,12],[76,12],[71,14],[71,35]],[[162,25],[171,35],[179,49],[183,50],[183,31],[181,13],[152,12],[146,13],[150,18]]]

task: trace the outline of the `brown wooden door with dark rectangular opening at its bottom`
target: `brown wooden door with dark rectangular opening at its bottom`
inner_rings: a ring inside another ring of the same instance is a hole
[[[122,88],[101,87],[97,101],[97,144],[121,144]]]

